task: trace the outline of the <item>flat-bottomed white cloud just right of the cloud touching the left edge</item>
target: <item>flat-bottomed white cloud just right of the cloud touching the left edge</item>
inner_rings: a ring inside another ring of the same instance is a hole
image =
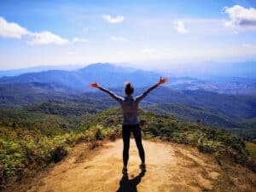
[[[52,32],[33,32],[30,33],[32,40],[28,44],[67,44],[68,39],[61,38]]]

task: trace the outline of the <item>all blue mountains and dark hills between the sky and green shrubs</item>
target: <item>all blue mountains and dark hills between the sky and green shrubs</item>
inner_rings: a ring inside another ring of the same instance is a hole
[[[165,74],[96,63],[72,71],[6,76],[0,78],[0,108],[26,108],[44,113],[61,111],[61,114],[96,112],[117,106],[117,103],[105,93],[90,88],[89,82],[98,82],[124,96],[124,82],[131,81],[137,96],[155,84],[161,75]],[[171,76],[168,84],[154,90],[141,106],[148,111],[224,128],[255,140],[256,89],[253,86],[253,79],[209,82]]]

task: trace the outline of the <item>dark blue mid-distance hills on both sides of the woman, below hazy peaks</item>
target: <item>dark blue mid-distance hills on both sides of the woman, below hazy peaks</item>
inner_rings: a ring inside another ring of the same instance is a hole
[[[144,90],[145,88],[136,89],[135,96]],[[117,105],[104,93],[81,91],[56,83],[0,84],[0,108],[25,108],[32,112],[81,115],[97,113]],[[123,88],[115,88],[113,91],[123,95]],[[204,90],[160,87],[141,104],[149,111],[173,115],[177,119],[190,122],[200,120],[204,125],[223,128],[254,141],[255,123],[250,119],[256,115],[255,101],[255,96],[231,96]]]

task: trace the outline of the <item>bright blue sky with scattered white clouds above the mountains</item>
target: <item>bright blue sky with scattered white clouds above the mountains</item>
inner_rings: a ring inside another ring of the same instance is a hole
[[[256,61],[255,37],[254,0],[0,1],[2,70]]]

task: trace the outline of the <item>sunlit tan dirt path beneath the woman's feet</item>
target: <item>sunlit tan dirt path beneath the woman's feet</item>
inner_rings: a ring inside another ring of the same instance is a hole
[[[202,191],[212,189],[218,166],[194,148],[173,143],[143,141],[147,172],[138,169],[140,160],[131,139],[128,177],[123,177],[122,141],[106,143],[87,156],[84,144],[73,148],[66,160],[38,179],[28,191]],[[83,151],[84,150],[84,151]],[[207,162],[210,161],[210,162]]]

